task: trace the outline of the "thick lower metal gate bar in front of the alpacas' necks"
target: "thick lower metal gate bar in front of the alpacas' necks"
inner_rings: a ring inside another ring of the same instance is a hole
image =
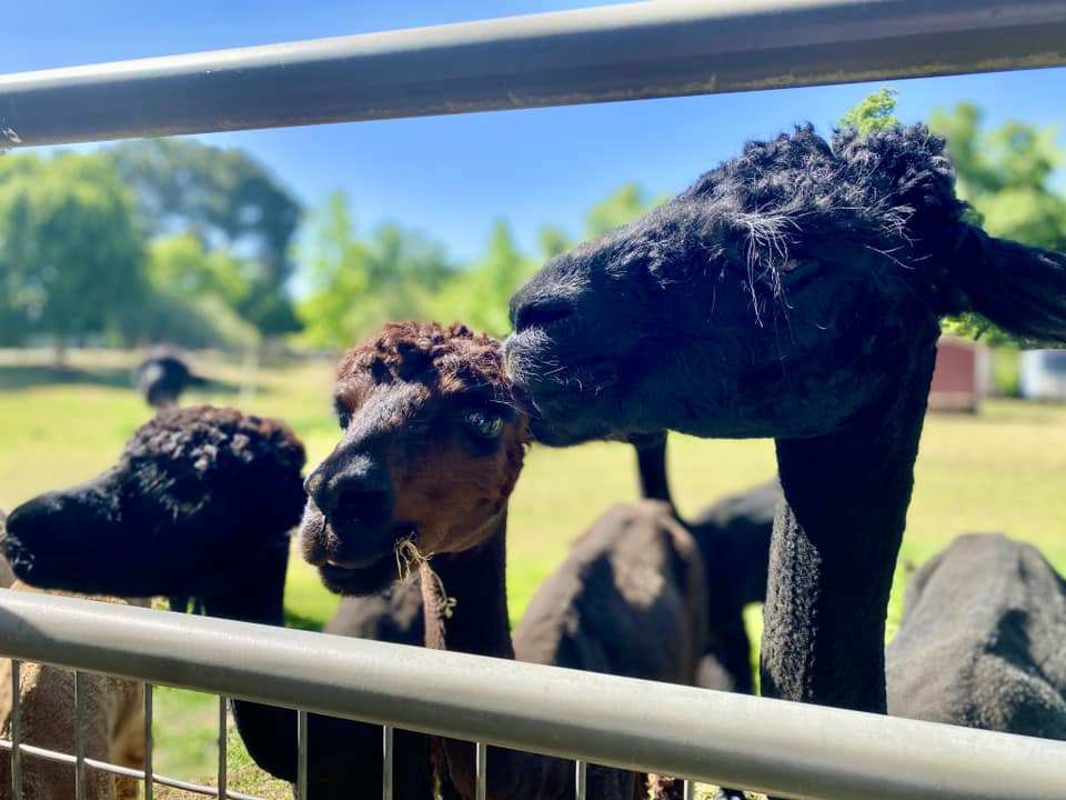
[[[111,603],[2,590],[0,651],[797,800],[1066,797],[1066,742]]]

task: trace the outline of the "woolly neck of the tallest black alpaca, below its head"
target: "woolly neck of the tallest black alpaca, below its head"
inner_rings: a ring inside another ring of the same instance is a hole
[[[849,430],[777,441],[765,694],[885,712],[885,613],[934,357],[918,350],[894,404]]]

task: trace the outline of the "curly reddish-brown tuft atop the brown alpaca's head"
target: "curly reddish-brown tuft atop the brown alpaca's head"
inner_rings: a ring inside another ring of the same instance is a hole
[[[374,386],[418,382],[450,396],[480,389],[509,397],[503,348],[456,322],[391,322],[349,350],[336,371],[339,396],[360,397]],[[358,403],[352,403],[358,404]]]

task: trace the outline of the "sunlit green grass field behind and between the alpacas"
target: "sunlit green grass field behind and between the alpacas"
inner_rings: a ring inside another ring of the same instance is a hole
[[[132,354],[76,351],[64,371],[49,368],[48,359],[46,352],[0,351],[0,508],[6,510],[112,464],[130,433],[149,418],[130,388]],[[335,443],[331,362],[255,368],[204,354],[195,368],[213,383],[208,391],[188,394],[187,402],[232,404],[283,418],[306,444],[309,464]],[[692,514],[725,493],[767,479],[774,471],[773,443],[674,437],[670,469],[680,509]],[[931,416],[893,589],[889,633],[902,610],[907,569],[958,533],[1007,532],[1037,544],[1066,571],[1064,476],[1066,407],[990,400],[977,416]],[[635,460],[624,446],[534,448],[511,504],[507,580],[514,618],[564,557],[571,539],[610,504],[635,499],[636,488]],[[329,618],[336,599],[296,557],[285,606],[292,623],[313,628]],[[757,633],[757,610],[747,619]],[[214,714],[211,698],[161,690],[158,771],[180,778],[211,776]],[[245,791],[268,797],[281,791],[263,787],[242,759],[247,756],[234,754],[234,788],[247,781]]]

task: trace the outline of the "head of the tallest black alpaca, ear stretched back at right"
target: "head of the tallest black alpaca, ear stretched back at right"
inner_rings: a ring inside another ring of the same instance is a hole
[[[889,402],[942,314],[1066,338],[1066,259],[993,240],[964,210],[921,126],[750,143],[515,294],[516,397],[556,444],[806,437]]]

